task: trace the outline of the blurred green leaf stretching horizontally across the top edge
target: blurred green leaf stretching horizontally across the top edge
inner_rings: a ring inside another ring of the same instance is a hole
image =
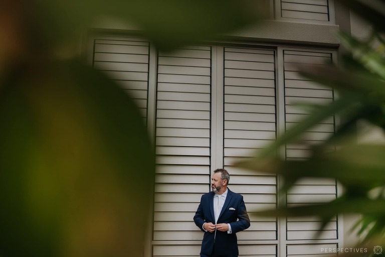
[[[73,38],[74,32],[83,32],[100,19],[113,18],[133,24],[164,50],[213,39],[257,21],[258,10],[252,10],[250,5],[247,0],[46,0],[40,1],[29,15],[37,21],[44,38],[55,40],[55,44]]]

